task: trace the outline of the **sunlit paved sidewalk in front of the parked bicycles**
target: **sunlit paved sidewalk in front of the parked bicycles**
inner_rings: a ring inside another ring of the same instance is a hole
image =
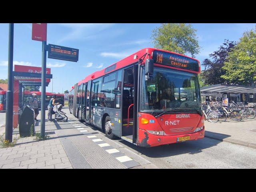
[[[205,121],[205,137],[256,149],[256,118],[244,118],[240,122]]]

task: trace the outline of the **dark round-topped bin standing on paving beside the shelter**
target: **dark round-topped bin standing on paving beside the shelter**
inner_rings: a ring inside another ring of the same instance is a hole
[[[35,133],[35,112],[30,106],[26,106],[20,116],[19,132],[20,137],[30,136]]]

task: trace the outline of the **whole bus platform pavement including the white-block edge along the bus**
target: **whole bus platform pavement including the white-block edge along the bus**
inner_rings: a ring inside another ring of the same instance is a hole
[[[68,122],[45,123],[49,139],[20,138],[16,146],[0,148],[0,168],[157,168],[63,110]],[[35,130],[40,132],[40,121]],[[18,129],[14,129],[16,136]]]

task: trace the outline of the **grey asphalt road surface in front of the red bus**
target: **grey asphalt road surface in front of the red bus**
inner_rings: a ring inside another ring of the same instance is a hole
[[[152,148],[118,142],[158,168],[256,168],[255,149],[210,138]]]

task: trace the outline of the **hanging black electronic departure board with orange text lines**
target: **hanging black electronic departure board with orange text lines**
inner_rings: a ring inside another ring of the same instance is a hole
[[[77,62],[78,52],[78,49],[49,44],[48,58]]]

